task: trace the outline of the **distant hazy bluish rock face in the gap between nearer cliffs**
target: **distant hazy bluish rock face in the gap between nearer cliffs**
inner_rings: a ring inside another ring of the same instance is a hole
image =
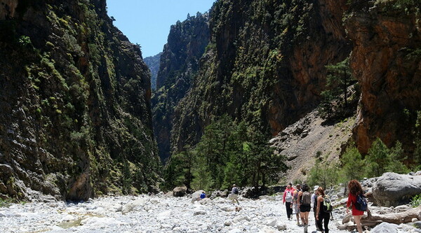
[[[209,42],[208,14],[188,16],[171,26],[164,45],[152,97],[154,134],[159,155],[165,161],[170,155],[174,108],[185,97],[199,69],[199,59]]]

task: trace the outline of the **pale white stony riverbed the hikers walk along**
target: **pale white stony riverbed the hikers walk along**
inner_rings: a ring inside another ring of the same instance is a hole
[[[303,232],[286,217],[281,195],[258,200],[240,197],[240,211],[229,199],[217,197],[192,202],[192,197],[163,194],[138,197],[100,197],[83,203],[31,202],[0,208],[2,233],[8,232]],[[335,209],[330,232],[338,230],[345,215]],[[309,232],[315,232],[310,214]],[[415,232],[410,225],[397,232]],[[372,231],[373,232],[373,231]]]

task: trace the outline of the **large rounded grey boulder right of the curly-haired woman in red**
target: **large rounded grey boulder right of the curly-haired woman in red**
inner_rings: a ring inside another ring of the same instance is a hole
[[[421,176],[387,172],[373,186],[374,203],[379,206],[398,206],[421,193]]]

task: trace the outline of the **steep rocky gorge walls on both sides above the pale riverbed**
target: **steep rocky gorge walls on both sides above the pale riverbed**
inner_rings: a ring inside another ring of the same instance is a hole
[[[420,8],[416,0],[218,0],[171,27],[152,94],[140,48],[112,25],[105,0],[0,0],[1,198],[159,192],[162,163],[166,174],[175,155],[189,165],[202,138],[216,141],[215,122],[233,129],[226,141],[240,150],[216,148],[223,166],[212,169],[225,178],[213,183],[226,185],[231,158],[256,159],[268,151],[259,138],[290,135],[323,101],[326,66],[347,58],[356,79],[350,114],[321,125],[355,124],[321,162],[339,161],[352,141],[366,155],[379,138],[389,148],[399,141],[403,162],[420,165]],[[281,156],[255,169],[269,171]],[[265,185],[265,171],[236,183]]]

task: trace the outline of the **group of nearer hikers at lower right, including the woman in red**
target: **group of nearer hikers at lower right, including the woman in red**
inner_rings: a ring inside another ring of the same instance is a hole
[[[307,184],[298,184],[293,187],[292,183],[286,186],[283,192],[283,204],[286,206],[286,215],[288,220],[293,219],[293,215],[297,219],[297,225],[304,227],[307,233],[309,226],[309,213],[313,207],[314,219],[316,220],[316,230],[328,233],[329,220],[332,216],[332,206],[325,191],[319,185],[314,186],[313,193],[309,192]],[[352,180],[348,183],[348,202],[347,213],[349,207],[352,208],[352,216],[356,223],[357,230],[362,233],[361,217],[364,211],[367,211],[366,199],[363,197],[363,189],[359,181]],[[300,223],[301,219],[301,223]]]

